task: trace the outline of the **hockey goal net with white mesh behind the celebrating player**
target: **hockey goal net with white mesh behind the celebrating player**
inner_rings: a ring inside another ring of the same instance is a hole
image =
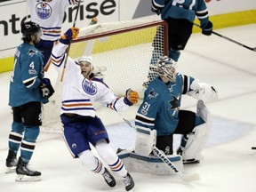
[[[168,52],[167,30],[162,20],[128,20],[91,25],[80,29],[79,36],[72,41],[69,56],[78,59],[91,55],[98,76],[103,74],[104,82],[116,96],[123,96],[128,88],[132,88],[139,92],[142,99],[142,84],[148,81],[149,64],[155,65],[156,60]],[[61,131],[60,107],[61,84],[57,79],[55,93],[49,104],[44,105],[42,131]]]

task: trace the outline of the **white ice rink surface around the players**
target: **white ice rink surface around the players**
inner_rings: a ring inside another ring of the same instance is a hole
[[[221,35],[251,47],[256,46],[256,24],[216,30]],[[199,173],[201,180],[186,183],[176,176],[159,176],[132,172],[136,192],[255,192],[256,191],[256,53],[228,42],[219,36],[193,34],[186,50],[181,52],[178,70],[212,84],[219,100],[206,103],[212,112],[213,129],[200,164],[186,165],[185,173]],[[87,171],[73,159],[60,134],[42,132],[36,144],[30,167],[42,172],[43,180],[15,182],[15,174],[4,174],[8,134],[12,114],[8,107],[11,72],[0,74],[0,186],[2,192],[94,192],[125,191],[116,176],[116,188],[108,188],[100,175]],[[115,74],[114,74],[115,76]],[[182,108],[196,110],[196,100],[183,97]],[[130,121],[138,106],[123,116]],[[135,132],[114,111],[100,109],[98,116],[107,124],[110,145],[132,148]],[[175,141],[178,145],[179,138]]]

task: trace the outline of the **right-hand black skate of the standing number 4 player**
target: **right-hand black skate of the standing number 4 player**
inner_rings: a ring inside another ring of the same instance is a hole
[[[38,181],[41,180],[41,172],[34,171],[28,168],[28,164],[22,161],[21,157],[16,167],[18,174],[16,181]]]

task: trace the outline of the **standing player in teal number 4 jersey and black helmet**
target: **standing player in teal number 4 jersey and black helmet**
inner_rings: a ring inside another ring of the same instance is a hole
[[[41,105],[47,103],[54,90],[48,78],[44,78],[43,58],[35,45],[39,43],[39,25],[28,21],[21,24],[23,44],[14,56],[10,82],[9,105],[12,107],[12,131],[9,134],[9,153],[6,173],[16,170],[16,180],[40,180],[41,172],[28,168],[33,155],[39,126],[42,124]],[[20,158],[17,162],[17,153]]]

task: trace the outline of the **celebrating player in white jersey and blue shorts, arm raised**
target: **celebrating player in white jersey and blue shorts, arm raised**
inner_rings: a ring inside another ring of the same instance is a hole
[[[59,44],[53,46],[52,64],[60,73],[67,57],[65,52],[69,41],[76,38],[78,31],[79,28],[69,28],[61,37]],[[78,157],[92,172],[103,175],[109,187],[115,187],[115,178],[100,159],[94,156],[89,145],[91,143],[111,171],[123,178],[126,191],[132,191],[134,188],[132,176],[109,147],[108,132],[100,118],[96,116],[93,103],[98,101],[108,108],[123,111],[137,103],[139,96],[137,92],[128,89],[124,97],[116,97],[107,84],[93,75],[93,68],[90,56],[83,56],[78,62],[68,57],[62,81],[60,112],[61,122],[64,124],[64,139],[72,156]]]

